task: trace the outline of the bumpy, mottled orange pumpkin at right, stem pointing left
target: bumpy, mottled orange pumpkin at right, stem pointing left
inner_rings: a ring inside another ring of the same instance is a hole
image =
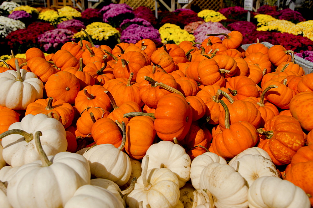
[[[294,117],[275,116],[257,131],[262,134],[258,147],[269,154],[275,165],[289,164],[305,143],[300,123]]]

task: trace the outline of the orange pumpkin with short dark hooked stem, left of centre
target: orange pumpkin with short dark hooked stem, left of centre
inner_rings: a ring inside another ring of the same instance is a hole
[[[105,94],[106,89],[100,85],[86,86],[79,91],[75,99],[75,107],[78,112],[83,112],[86,108],[101,107],[103,110],[112,109],[110,99]]]

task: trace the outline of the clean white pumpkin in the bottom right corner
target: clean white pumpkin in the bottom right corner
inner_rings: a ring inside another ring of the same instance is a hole
[[[288,180],[274,176],[263,176],[256,179],[248,190],[250,208],[310,208],[309,197],[298,186]]]

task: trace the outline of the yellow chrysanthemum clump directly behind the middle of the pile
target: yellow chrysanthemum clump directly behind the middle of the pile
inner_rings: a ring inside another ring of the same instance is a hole
[[[159,33],[161,35],[162,42],[173,41],[175,44],[179,44],[184,40],[195,41],[195,37],[189,34],[186,30],[181,29],[175,24],[166,23],[160,29]]]

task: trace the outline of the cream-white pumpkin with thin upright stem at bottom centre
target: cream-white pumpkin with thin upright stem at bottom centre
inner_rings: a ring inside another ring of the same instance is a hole
[[[130,208],[143,207],[173,208],[179,203],[179,181],[168,168],[148,169],[149,156],[145,156],[145,167],[142,175],[137,179],[134,190],[126,197],[126,204]]]

